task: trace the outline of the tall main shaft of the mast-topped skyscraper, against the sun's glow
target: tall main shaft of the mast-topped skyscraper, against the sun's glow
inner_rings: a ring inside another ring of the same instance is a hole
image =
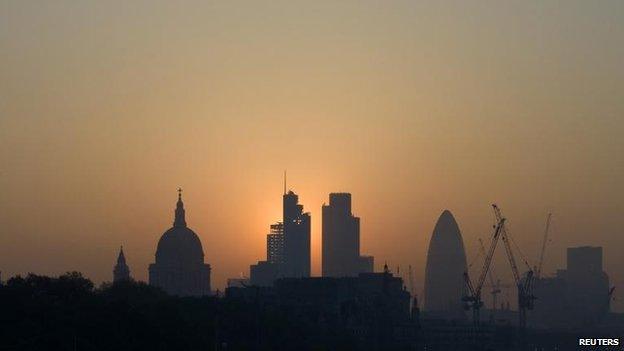
[[[303,212],[299,196],[288,191],[283,197],[284,277],[310,276],[310,214]]]

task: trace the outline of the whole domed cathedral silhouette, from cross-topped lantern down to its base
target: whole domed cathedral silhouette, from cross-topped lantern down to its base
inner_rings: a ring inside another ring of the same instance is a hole
[[[195,232],[186,226],[182,189],[178,189],[173,227],[160,238],[156,262],[149,266],[149,284],[177,296],[210,294],[210,265]]]

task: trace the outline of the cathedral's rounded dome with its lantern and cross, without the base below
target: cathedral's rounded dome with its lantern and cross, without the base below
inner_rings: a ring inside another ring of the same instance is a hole
[[[186,226],[184,203],[178,194],[173,227],[158,241],[156,264],[162,266],[189,266],[204,263],[204,250],[195,232]]]

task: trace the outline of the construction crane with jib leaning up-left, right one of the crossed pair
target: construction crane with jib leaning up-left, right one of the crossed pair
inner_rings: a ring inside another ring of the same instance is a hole
[[[509,264],[511,265],[511,272],[514,276],[514,281],[516,286],[518,287],[518,325],[520,327],[521,332],[524,334],[526,330],[526,319],[527,319],[527,310],[533,309],[533,302],[535,300],[535,296],[533,296],[532,292],[532,284],[533,284],[533,270],[531,266],[524,259],[524,263],[527,266],[528,270],[526,276],[523,278],[520,276],[518,271],[518,265],[516,264],[516,259],[513,254],[513,250],[511,249],[511,237],[507,232],[507,228],[505,226],[504,217],[501,214],[500,208],[496,204],[492,204],[492,208],[494,209],[494,214],[496,216],[496,220],[502,222],[501,228],[501,237],[503,239],[503,243],[505,244],[505,251],[507,252],[507,259],[509,260]]]

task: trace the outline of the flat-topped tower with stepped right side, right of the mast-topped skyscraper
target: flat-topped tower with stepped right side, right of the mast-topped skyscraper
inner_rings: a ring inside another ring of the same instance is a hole
[[[355,277],[373,271],[373,257],[360,256],[360,218],[351,213],[351,194],[329,194],[323,205],[322,273],[324,277]]]

